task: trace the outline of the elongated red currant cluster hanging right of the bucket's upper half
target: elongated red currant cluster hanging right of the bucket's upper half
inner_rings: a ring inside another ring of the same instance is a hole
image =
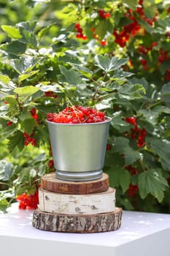
[[[136,124],[136,118],[134,117],[126,117],[125,121],[128,124],[132,124],[134,126],[134,128],[131,128],[130,136],[132,139],[136,139],[137,146],[139,146],[139,148],[142,148],[145,145],[144,138],[147,135],[146,129],[140,129]]]

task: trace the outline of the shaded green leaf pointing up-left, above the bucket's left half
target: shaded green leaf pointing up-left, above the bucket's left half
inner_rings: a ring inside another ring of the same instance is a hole
[[[83,83],[80,74],[74,69],[68,70],[61,65],[59,65],[59,68],[66,83],[69,83],[72,86],[77,86],[77,84]]]

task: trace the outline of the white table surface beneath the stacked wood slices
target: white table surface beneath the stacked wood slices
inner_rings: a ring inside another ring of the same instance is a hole
[[[123,211],[119,230],[106,233],[54,233],[31,225],[33,211],[0,214],[0,255],[170,256],[170,214]]]

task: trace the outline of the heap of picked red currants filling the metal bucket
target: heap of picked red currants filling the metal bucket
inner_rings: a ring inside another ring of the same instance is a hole
[[[66,107],[60,113],[47,113],[47,121],[63,124],[98,123],[105,120],[104,112],[82,106]]]

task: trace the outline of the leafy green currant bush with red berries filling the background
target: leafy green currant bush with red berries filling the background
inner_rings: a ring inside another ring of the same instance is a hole
[[[40,177],[55,171],[47,121],[108,116],[104,172],[117,206],[170,212],[169,1],[0,7],[0,207],[16,197],[36,206]]]

